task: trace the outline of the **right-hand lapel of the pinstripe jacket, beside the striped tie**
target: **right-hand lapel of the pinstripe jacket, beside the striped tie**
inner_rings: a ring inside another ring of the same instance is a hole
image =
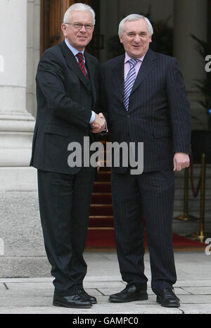
[[[143,80],[146,79],[146,77],[149,75],[151,70],[155,67],[156,63],[156,56],[151,49],[148,49],[146,56],[143,58],[143,63],[141,64],[141,68],[139,69],[139,73],[136,77],[136,80],[134,82],[134,86],[132,88],[131,94],[139,87],[139,85],[143,82]]]

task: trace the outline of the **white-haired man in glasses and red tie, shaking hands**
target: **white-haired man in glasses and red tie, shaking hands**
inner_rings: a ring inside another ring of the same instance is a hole
[[[90,308],[96,303],[83,288],[87,273],[83,252],[96,168],[68,165],[68,145],[74,141],[82,146],[83,158],[84,137],[96,136],[91,122],[105,125],[97,114],[100,66],[84,52],[94,21],[91,7],[70,6],[62,24],[65,40],[43,53],[36,76],[37,120],[30,165],[38,169],[41,225],[55,277],[53,305],[68,308]]]

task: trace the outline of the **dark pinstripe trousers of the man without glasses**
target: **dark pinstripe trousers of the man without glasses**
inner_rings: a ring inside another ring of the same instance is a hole
[[[144,224],[155,294],[176,282],[172,246],[174,172],[113,173],[111,176],[115,243],[122,279],[146,289]]]

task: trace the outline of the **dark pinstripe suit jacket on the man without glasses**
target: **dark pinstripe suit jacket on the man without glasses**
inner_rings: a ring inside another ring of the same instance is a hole
[[[191,153],[191,115],[177,59],[148,49],[123,103],[124,55],[102,65],[102,106],[111,141],[143,142],[143,171],[172,170],[174,153]],[[120,168],[112,172],[125,172]]]

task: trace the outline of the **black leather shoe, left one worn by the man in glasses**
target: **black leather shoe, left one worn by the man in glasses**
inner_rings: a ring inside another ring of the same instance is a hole
[[[91,308],[91,301],[81,294],[70,296],[53,296],[53,305],[64,306],[65,308]]]

